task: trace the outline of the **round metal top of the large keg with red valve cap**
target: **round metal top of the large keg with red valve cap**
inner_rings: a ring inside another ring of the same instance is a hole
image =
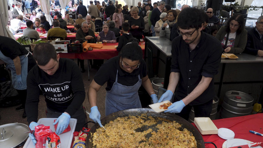
[[[225,93],[225,96],[228,99],[231,99],[233,101],[237,102],[253,102],[253,97],[249,94],[246,94],[244,92],[238,92],[238,91],[228,91]]]

